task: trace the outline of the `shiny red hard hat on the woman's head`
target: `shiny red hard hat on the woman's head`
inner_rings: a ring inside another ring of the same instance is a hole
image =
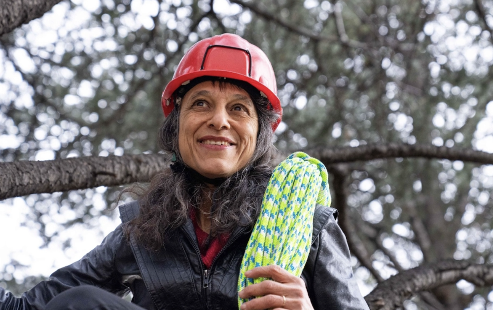
[[[272,131],[276,130],[281,122],[282,107],[272,65],[260,48],[233,34],[203,39],[190,47],[163,92],[164,116],[168,116],[175,107],[173,93],[176,89],[204,76],[234,78],[258,89],[279,113],[279,118],[272,124]]]

